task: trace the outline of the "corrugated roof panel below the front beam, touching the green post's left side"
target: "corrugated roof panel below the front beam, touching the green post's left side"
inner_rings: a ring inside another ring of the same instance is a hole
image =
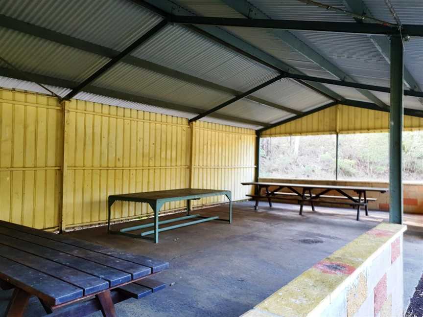
[[[389,85],[389,64],[366,35],[312,31],[293,33],[357,82]]]

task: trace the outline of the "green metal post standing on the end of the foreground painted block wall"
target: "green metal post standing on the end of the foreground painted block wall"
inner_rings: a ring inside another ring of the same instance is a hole
[[[402,224],[403,43],[391,36],[391,115],[389,126],[389,222]]]

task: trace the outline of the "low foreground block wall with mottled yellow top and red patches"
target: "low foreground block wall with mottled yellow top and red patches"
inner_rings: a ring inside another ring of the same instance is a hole
[[[401,317],[405,229],[376,226],[242,316]]]

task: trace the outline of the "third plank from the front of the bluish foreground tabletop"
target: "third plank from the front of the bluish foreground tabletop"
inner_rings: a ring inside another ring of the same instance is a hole
[[[93,263],[91,261],[72,256],[67,253],[59,252],[36,244],[28,244],[28,241],[19,240],[11,236],[5,236],[2,233],[4,229],[0,228],[0,243],[20,249],[22,251],[34,254],[45,259],[66,265],[81,272],[92,274],[109,282],[110,287],[129,282],[131,274],[122,272],[107,266]]]

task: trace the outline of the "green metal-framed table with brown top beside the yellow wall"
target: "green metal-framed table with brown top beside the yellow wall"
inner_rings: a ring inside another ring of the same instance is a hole
[[[220,219],[218,216],[213,217],[203,217],[199,214],[191,215],[191,200],[197,200],[203,197],[211,196],[221,196],[224,195],[229,200],[229,217],[228,219]],[[165,203],[175,202],[175,201],[187,201],[187,215],[178,218],[172,218],[164,221],[159,221],[159,212],[160,208]],[[154,222],[146,225],[140,226],[131,226],[122,228],[120,230],[112,230],[111,228],[111,207],[116,201],[124,202],[136,202],[136,203],[147,203],[151,206],[154,212]],[[153,240],[154,243],[159,242],[159,232],[172,230],[184,226],[191,226],[200,224],[203,222],[208,222],[211,220],[220,220],[232,223],[232,194],[229,190],[220,190],[220,189],[196,189],[196,188],[181,188],[181,189],[171,189],[171,190],[160,190],[152,192],[143,192],[143,193],[131,193],[131,194],[120,194],[120,195],[110,195],[109,196],[109,213],[108,213],[108,231],[110,233],[124,234],[129,235],[134,238],[144,238]],[[176,224],[173,226],[166,226],[159,228],[159,225],[170,224],[172,222],[182,222],[185,220],[190,220],[193,218],[198,218],[197,220],[192,220],[189,222],[184,222]],[[153,227],[153,230],[144,231],[141,233],[129,233],[130,231],[138,231],[148,227]],[[153,235],[153,237],[148,237],[148,235]]]

